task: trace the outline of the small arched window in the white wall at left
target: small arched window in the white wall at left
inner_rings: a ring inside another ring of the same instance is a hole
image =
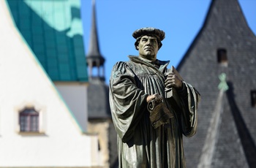
[[[26,107],[19,112],[20,132],[39,132],[39,112]]]

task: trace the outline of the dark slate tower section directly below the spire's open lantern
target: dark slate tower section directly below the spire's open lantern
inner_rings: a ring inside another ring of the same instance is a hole
[[[91,78],[88,87],[88,111],[90,119],[110,119],[108,85],[98,77]]]

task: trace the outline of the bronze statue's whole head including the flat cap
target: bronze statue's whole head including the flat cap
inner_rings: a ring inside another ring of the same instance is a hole
[[[139,50],[139,56],[151,61],[157,59],[157,52],[162,47],[162,39],[165,39],[165,32],[157,28],[140,28],[132,37],[136,39],[135,48]]]

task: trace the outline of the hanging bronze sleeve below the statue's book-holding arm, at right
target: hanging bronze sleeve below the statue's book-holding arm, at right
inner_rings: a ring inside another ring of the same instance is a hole
[[[192,137],[197,131],[197,104],[200,102],[200,93],[189,83],[184,83],[181,96],[181,127],[187,137]]]

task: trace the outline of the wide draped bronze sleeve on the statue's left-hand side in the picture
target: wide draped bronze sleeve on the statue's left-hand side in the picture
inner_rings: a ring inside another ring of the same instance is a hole
[[[146,111],[148,94],[136,86],[136,75],[125,62],[113,66],[109,95],[116,132],[123,142],[128,142]]]

